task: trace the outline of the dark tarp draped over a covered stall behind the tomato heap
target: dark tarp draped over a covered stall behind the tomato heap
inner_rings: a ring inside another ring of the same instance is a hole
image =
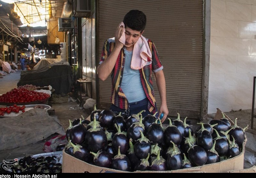
[[[55,94],[67,94],[73,85],[72,67],[68,62],[58,62],[38,70],[21,71],[17,86],[32,84],[39,87],[52,86]]]

